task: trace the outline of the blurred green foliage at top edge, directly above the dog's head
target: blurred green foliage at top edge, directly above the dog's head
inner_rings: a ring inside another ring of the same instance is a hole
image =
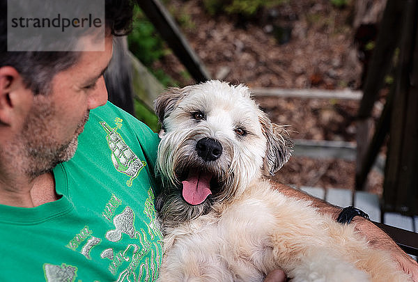
[[[286,0],[203,0],[210,15],[226,13],[252,17],[263,7],[277,6]]]

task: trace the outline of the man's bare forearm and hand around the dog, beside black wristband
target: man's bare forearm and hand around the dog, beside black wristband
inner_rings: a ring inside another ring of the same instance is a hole
[[[340,207],[331,205],[319,198],[314,198],[305,194],[303,191],[293,189],[286,185],[281,185],[274,183],[274,187],[279,189],[281,193],[286,196],[291,196],[294,198],[300,198],[307,201],[311,201],[314,207],[318,207],[319,211],[323,214],[330,214],[332,218],[336,220],[339,213],[341,212]],[[373,248],[385,249],[392,253],[392,257],[398,262],[399,269],[402,269],[408,274],[412,274],[412,279],[415,282],[418,282],[418,264],[415,260],[412,260],[402,249],[394,242],[394,240],[389,237],[385,232],[380,228],[374,225],[371,221],[364,219],[363,217],[354,217],[351,224],[355,224],[355,229],[366,236],[369,240],[369,244]]]

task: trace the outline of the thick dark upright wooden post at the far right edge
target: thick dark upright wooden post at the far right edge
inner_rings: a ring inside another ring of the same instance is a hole
[[[418,5],[405,1],[404,25],[383,184],[385,210],[418,214]]]

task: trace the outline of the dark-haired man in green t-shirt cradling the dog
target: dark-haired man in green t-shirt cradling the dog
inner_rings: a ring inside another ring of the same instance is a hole
[[[102,77],[111,34],[127,30],[132,7],[107,1],[104,51],[7,52],[6,0],[0,3],[0,280],[156,279],[159,139],[107,102]],[[93,44],[94,36],[80,40]],[[372,243],[382,242],[376,247],[392,249],[405,271],[417,274],[389,237],[355,221]],[[283,281],[284,274],[277,270],[268,279]]]

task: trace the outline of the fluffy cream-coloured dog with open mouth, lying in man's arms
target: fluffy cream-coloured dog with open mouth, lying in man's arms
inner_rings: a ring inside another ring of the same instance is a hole
[[[277,268],[295,282],[412,281],[352,225],[272,187],[267,176],[288,161],[293,142],[246,86],[171,88],[155,112],[164,130],[158,281],[263,281]]]

